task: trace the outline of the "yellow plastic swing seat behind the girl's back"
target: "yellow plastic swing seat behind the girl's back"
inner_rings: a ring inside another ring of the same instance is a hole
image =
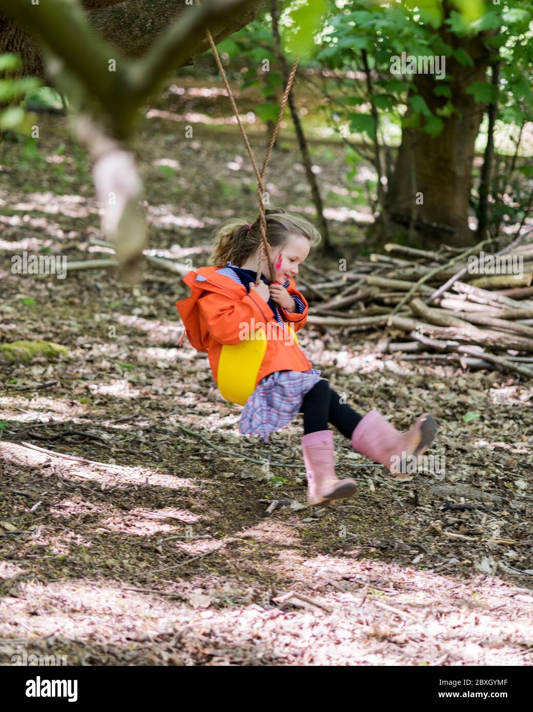
[[[298,337],[294,329],[288,324],[286,326],[297,344]],[[231,346],[227,344],[222,346],[217,369],[217,385],[224,399],[239,405],[247,402],[254,392],[266,352],[267,335],[264,329],[254,332],[252,339],[245,339]]]

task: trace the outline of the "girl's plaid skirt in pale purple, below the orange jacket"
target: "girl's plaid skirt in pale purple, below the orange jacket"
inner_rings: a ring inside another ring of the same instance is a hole
[[[304,396],[319,381],[320,371],[276,371],[265,376],[247,400],[239,422],[243,435],[269,435],[299,413]]]

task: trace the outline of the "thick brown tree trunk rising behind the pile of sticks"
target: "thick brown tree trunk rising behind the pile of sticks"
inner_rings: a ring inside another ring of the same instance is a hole
[[[410,179],[414,174],[415,193],[423,194],[423,204],[417,206],[418,218],[427,223],[446,226],[454,232],[440,232],[417,224],[418,230],[426,239],[445,239],[447,244],[467,246],[475,239],[475,233],[468,226],[468,205],[472,188],[474,143],[484,107],[476,103],[466,90],[472,82],[485,81],[489,57],[482,36],[459,38],[442,28],[440,34],[443,41],[454,49],[466,51],[472,57],[475,67],[462,66],[455,58],[446,57],[446,74],[451,77],[449,86],[455,112],[452,117],[444,119],[443,130],[438,136],[412,129],[403,131],[387,192],[388,209],[390,218],[397,224],[408,221],[416,199]],[[414,85],[431,112],[435,113],[446,103],[445,98],[433,93],[440,85],[440,80],[435,76],[416,74]]]

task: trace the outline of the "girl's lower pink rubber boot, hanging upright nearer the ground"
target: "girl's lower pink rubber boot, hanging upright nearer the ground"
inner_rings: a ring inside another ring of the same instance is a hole
[[[350,497],[356,492],[354,480],[339,480],[333,459],[333,431],[319,430],[301,438],[307,475],[307,503],[310,505]]]

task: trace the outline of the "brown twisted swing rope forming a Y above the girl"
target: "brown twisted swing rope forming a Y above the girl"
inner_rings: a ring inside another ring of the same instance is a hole
[[[200,6],[200,0],[196,0],[196,4],[198,6]],[[264,202],[263,202],[263,194],[264,194],[263,178],[264,178],[264,174],[267,170],[267,165],[269,164],[269,159],[270,159],[272,149],[274,148],[274,142],[276,141],[279,124],[281,123],[281,117],[283,115],[285,105],[289,98],[289,92],[291,90],[292,80],[294,79],[294,75],[296,74],[296,68],[297,68],[298,62],[299,62],[299,56],[296,56],[296,59],[294,60],[294,64],[291,69],[291,73],[289,74],[289,79],[287,80],[285,93],[283,95],[283,99],[281,100],[281,105],[279,107],[279,115],[276,120],[276,125],[274,126],[274,131],[272,132],[272,135],[270,138],[270,143],[269,143],[269,147],[267,149],[267,154],[264,157],[263,168],[262,168],[261,172],[259,172],[259,169],[258,169],[257,164],[254,159],[254,152],[252,151],[252,146],[250,145],[250,142],[246,135],[246,131],[244,130],[244,126],[242,125],[242,121],[239,116],[239,110],[237,110],[237,104],[235,103],[235,100],[233,98],[232,90],[229,87],[229,83],[227,81],[227,76],[224,71],[224,67],[222,66],[222,62],[220,61],[219,53],[217,52],[217,47],[214,44],[212,34],[209,31],[209,28],[207,28],[206,34],[207,34],[207,39],[209,41],[209,46],[211,47],[211,49],[213,51],[214,59],[217,62],[217,67],[218,67],[219,73],[222,77],[222,81],[224,82],[224,86],[225,86],[227,94],[229,96],[229,101],[232,104],[233,113],[234,113],[235,117],[237,118],[237,123],[239,124],[239,129],[241,130],[242,138],[244,140],[244,145],[247,148],[248,155],[250,157],[250,161],[252,162],[252,166],[254,168],[254,172],[257,177],[257,194],[259,196],[259,231],[261,234],[261,249],[259,250],[259,264],[257,266],[257,277],[256,277],[256,281],[255,281],[256,286],[257,286],[257,285],[259,285],[259,281],[261,280],[261,266],[262,266],[264,259],[266,259],[267,264],[269,266],[270,280],[274,281],[274,268],[272,266],[271,259],[269,257],[269,243],[267,240],[267,218],[265,217],[265,206],[264,206]]]

